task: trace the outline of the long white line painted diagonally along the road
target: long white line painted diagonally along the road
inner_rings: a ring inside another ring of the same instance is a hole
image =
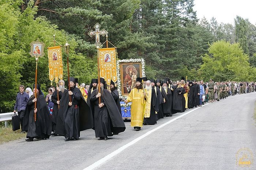
[[[207,104],[210,104],[210,103],[207,103]],[[206,106],[207,104],[204,104],[203,106]],[[203,107],[203,106],[202,106],[202,107]],[[183,117],[183,116],[185,116],[185,115],[187,115],[187,114],[191,113],[192,111],[195,111],[195,110],[197,110],[197,109],[199,109],[199,108],[200,108],[200,107],[194,108],[193,110],[188,111],[187,113],[184,113],[184,114],[178,116],[177,118],[174,118],[174,119],[172,119],[172,120],[169,120],[168,122],[166,122],[166,123],[164,123],[164,124],[162,124],[162,125],[156,127],[155,129],[152,129],[152,130],[148,131],[147,133],[141,135],[140,137],[134,139],[133,141],[131,141],[131,142],[125,144],[124,146],[118,148],[117,150],[115,150],[115,151],[113,151],[112,153],[106,155],[104,158],[99,159],[97,162],[94,162],[92,165],[86,167],[86,168],[83,169],[83,170],[91,170],[91,169],[94,169],[94,168],[98,167],[98,166],[101,165],[102,163],[108,161],[109,159],[111,159],[111,158],[114,157],[115,155],[119,154],[121,151],[123,151],[123,150],[125,150],[126,148],[128,148],[129,146],[135,144],[135,143],[138,142],[140,139],[145,138],[147,135],[153,133],[154,131],[156,131],[156,130],[162,128],[162,127],[164,127],[165,125],[167,125],[167,124],[173,122],[174,120],[177,120],[177,119],[179,119],[179,118],[181,118],[181,117]]]

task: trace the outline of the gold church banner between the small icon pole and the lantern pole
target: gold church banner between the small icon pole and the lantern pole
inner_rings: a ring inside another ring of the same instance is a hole
[[[48,47],[49,79],[57,84],[63,79],[63,63],[61,46]]]

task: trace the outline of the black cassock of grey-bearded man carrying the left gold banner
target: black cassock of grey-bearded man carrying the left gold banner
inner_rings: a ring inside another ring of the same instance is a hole
[[[59,111],[59,104],[57,104],[57,101],[58,101],[57,92],[58,90],[55,90],[52,94],[52,102],[54,103],[53,110],[52,110],[52,131],[53,132],[56,130],[57,116]],[[62,92],[59,91],[59,100],[61,100],[61,96],[62,96]]]

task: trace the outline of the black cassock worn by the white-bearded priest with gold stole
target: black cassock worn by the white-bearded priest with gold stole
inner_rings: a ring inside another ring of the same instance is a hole
[[[157,111],[157,108],[155,107],[156,103],[157,103],[157,96],[155,95],[155,89],[152,88],[151,102],[150,102],[150,117],[149,118],[144,117],[143,124],[147,125],[147,124],[156,124],[157,123],[157,119],[156,119],[156,115],[155,115],[155,111]]]

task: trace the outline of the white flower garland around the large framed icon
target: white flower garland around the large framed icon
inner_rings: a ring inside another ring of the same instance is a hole
[[[117,68],[117,91],[119,94],[120,99],[127,99],[127,96],[122,95],[121,90],[121,79],[120,79],[120,63],[141,63],[142,67],[142,77],[146,77],[145,75],[145,62],[144,59],[123,59],[123,60],[117,60],[116,62],[116,68]]]

